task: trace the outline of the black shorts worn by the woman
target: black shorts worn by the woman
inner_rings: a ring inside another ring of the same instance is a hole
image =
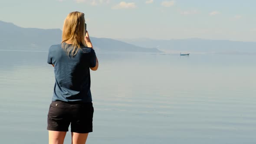
[[[69,124],[71,124],[71,132],[92,132],[93,112],[92,102],[52,101],[48,112],[47,130],[69,131]]]

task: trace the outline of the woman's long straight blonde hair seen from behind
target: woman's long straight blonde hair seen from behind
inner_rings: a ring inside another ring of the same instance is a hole
[[[65,46],[64,42],[69,42],[72,46]],[[85,44],[85,17],[84,13],[72,12],[65,19],[62,30],[62,49],[67,55],[75,56],[81,46]]]

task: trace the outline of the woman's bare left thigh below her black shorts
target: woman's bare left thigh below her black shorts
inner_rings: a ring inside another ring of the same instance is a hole
[[[63,144],[66,131],[49,131],[49,144]]]

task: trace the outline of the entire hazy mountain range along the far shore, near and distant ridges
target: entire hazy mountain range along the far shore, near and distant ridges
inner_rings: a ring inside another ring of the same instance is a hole
[[[61,42],[60,29],[22,28],[0,21],[0,49],[43,50]],[[91,37],[97,51],[102,52],[210,52],[253,53],[256,42],[210,39],[108,39]],[[158,50],[159,49],[159,50]],[[161,50],[161,51],[160,51]]]

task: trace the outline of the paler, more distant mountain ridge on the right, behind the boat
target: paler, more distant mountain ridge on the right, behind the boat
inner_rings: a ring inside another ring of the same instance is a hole
[[[120,39],[142,47],[156,47],[164,52],[256,53],[256,42],[210,39]]]

